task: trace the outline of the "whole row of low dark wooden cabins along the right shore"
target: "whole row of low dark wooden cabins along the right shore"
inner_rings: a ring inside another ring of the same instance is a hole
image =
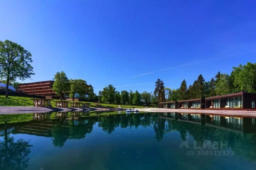
[[[170,109],[256,109],[255,100],[256,93],[240,92],[207,98],[161,102],[160,106]]]

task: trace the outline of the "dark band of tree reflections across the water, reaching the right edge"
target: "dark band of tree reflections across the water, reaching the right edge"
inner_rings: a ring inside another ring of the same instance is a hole
[[[220,129],[216,127],[210,126],[202,126],[196,123],[183,122],[178,120],[169,120],[159,118],[158,114],[116,114],[116,115],[104,115],[99,116],[98,120],[90,121],[95,118],[88,118],[88,122],[91,122],[91,125],[88,125],[87,128],[91,128],[90,130],[86,130],[86,127],[83,127],[82,124],[71,125],[68,127],[65,132],[63,127],[59,127],[64,131],[63,135],[59,135],[60,141],[56,141],[58,146],[68,140],[75,138],[83,138],[85,134],[90,133],[92,131],[92,122],[98,121],[98,126],[102,127],[102,129],[111,134],[116,127],[127,128],[127,127],[149,127],[153,126],[155,131],[155,138],[157,141],[163,139],[164,134],[177,131],[180,133],[180,136],[183,140],[186,140],[188,136],[193,136],[195,141],[198,142],[198,145],[202,146],[203,142],[211,141],[219,143],[228,143],[228,147],[234,151],[234,155],[239,158],[246,159],[248,161],[256,161],[256,135],[255,134],[239,134],[232,131],[228,131],[225,129]],[[80,128],[82,132],[79,131]],[[58,131],[58,130],[57,130]],[[67,135],[65,135],[67,133]],[[54,133],[53,133],[54,134]],[[53,135],[53,136],[57,136]],[[62,142],[61,142],[62,141]],[[63,146],[63,145],[62,145]],[[220,149],[220,148],[219,148]]]

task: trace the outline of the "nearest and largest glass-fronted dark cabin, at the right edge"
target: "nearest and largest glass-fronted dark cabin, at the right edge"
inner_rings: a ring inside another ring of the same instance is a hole
[[[206,108],[255,109],[256,93],[233,93],[205,98]],[[227,106],[227,107],[226,107]]]

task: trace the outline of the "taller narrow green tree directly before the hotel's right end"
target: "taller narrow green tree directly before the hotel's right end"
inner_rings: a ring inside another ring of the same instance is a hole
[[[61,71],[54,75],[54,79],[55,82],[53,83],[52,89],[57,95],[60,95],[60,101],[62,101],[62,92],[67,92],[70,89],[68,77],[64,71]]]

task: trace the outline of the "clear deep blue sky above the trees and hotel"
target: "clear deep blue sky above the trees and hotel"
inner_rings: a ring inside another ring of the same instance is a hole
[[[256,51],[243,53],[256,50],[255,9],[254,1],[0,1],[0,40],[31,52],[35,75],[25,82],[63,70],[97,93],[110,83],[153,91],[158,78],[177,88],[255,62]]]

